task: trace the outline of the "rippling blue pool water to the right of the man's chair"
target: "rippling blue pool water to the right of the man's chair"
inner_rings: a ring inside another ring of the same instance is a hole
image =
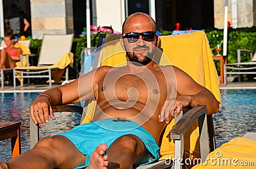
[[[256,132],[256,90],[221,90],[220,112],[212,115],[216,147],[246,131]]]

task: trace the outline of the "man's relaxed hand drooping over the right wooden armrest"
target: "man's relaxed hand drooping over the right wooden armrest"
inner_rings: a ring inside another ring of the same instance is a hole
[[[188,95],[177,96],[176,98],[166,99],[164,106],[161,108],[159,122],[169,123],[174,115],[179,115],[182,107],[188,107],[191,103],[191,97]]]

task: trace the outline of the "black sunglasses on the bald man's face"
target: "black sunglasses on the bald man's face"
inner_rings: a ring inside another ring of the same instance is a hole
[[[156,32],[147,31],[145,33],[124,33],[123,38],[127,38],[129,43],[134,43],[142,36],[145,41],[154,41],[156,37]]]

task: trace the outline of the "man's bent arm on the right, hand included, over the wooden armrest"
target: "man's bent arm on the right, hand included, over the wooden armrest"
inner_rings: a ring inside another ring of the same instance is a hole
[[[176,98],[167,99],[161,109],[159,121],[169,122],[176,114],[179,115],[182,107],[196,107],[196,105],[206,105],[207,114],[214,114],[219,111],[219,102],[211,91],[199,85],[189,77],[184,71],[173,66],[177,80]]]

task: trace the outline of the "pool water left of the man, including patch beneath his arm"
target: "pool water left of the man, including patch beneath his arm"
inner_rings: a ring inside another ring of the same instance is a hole
[[[39,93],[1,93],[0,121],[21,121],[20,140],[21,152],[29,148],[29,105]],[[80,122],[81,115],[76,113],[56,113],[56,121],[49,123],[40,129],[40,137],[52,136],[74,128]],[[0,160],[7,161],[11,158],[10,139],[0,142]]]

